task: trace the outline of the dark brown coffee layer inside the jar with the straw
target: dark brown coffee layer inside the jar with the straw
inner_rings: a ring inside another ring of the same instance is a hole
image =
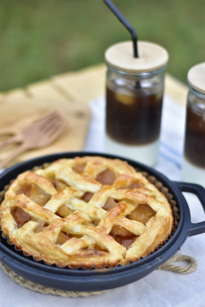
[[[116,94],[107,88],[106,131],[115,141],[127,145],[149,144],[160,134],[162,97]]]

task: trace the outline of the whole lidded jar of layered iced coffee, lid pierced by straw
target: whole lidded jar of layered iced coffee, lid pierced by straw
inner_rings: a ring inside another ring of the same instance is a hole
[[[159,45],[132,42],[111,46],[107,72],[105,151],[154,166],[159,150],[161,110],[168,52]]]

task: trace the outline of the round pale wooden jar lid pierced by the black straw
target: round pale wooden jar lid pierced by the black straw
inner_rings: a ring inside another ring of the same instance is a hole
[[[139,57],[133,57],[133,43],[122,42],[106,50],[106,63],[111,67],[127,72],[142,73],[157,70],[165,66],[169,54],[163,47],[149,42],[137,42]]]

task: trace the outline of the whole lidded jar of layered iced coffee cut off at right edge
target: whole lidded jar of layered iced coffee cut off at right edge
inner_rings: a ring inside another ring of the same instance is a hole
[[[182,180],[205,188],[205,63],[188,72],[187,118]]]

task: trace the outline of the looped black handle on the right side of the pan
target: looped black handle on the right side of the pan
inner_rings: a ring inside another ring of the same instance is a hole
[[[200,200],[201,206],[203,207],[203,211],[205,212],[205,189],[195,183],[188,182],[178,182],[174,181],[176,187],[181,192],[190,192],[195,194]],[[199,223],[192,223],[191,220],[188,224],[188,235],[189,237],[199,235],[205,232],[205,221]]]

